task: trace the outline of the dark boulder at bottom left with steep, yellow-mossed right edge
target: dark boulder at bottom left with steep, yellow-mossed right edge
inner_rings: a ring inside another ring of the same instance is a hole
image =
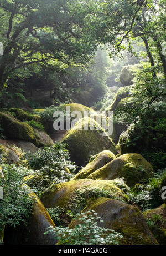
[[[4,233],[6,245],[55,245],[56,240],[50,233],[44,235],[46,228],[55,224],[42,202],[34,193],[29,194],[34,199],[32,215],[28,225],[21,224],[15,228],[7,227]]]

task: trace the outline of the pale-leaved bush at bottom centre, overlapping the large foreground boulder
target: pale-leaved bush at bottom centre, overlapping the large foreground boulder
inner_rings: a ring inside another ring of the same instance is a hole
[[[106,229],[98,226],[98,222],[103,220],[94,210],[89,210],[86,213],[76,215],[76,220],[79,218],[79,224],[75,228],[60,228],[49,227],[48,231],[58,239],[58,244],[63,245],[96,245],[96,244],[118,244],[122,235],[111,229]]]

